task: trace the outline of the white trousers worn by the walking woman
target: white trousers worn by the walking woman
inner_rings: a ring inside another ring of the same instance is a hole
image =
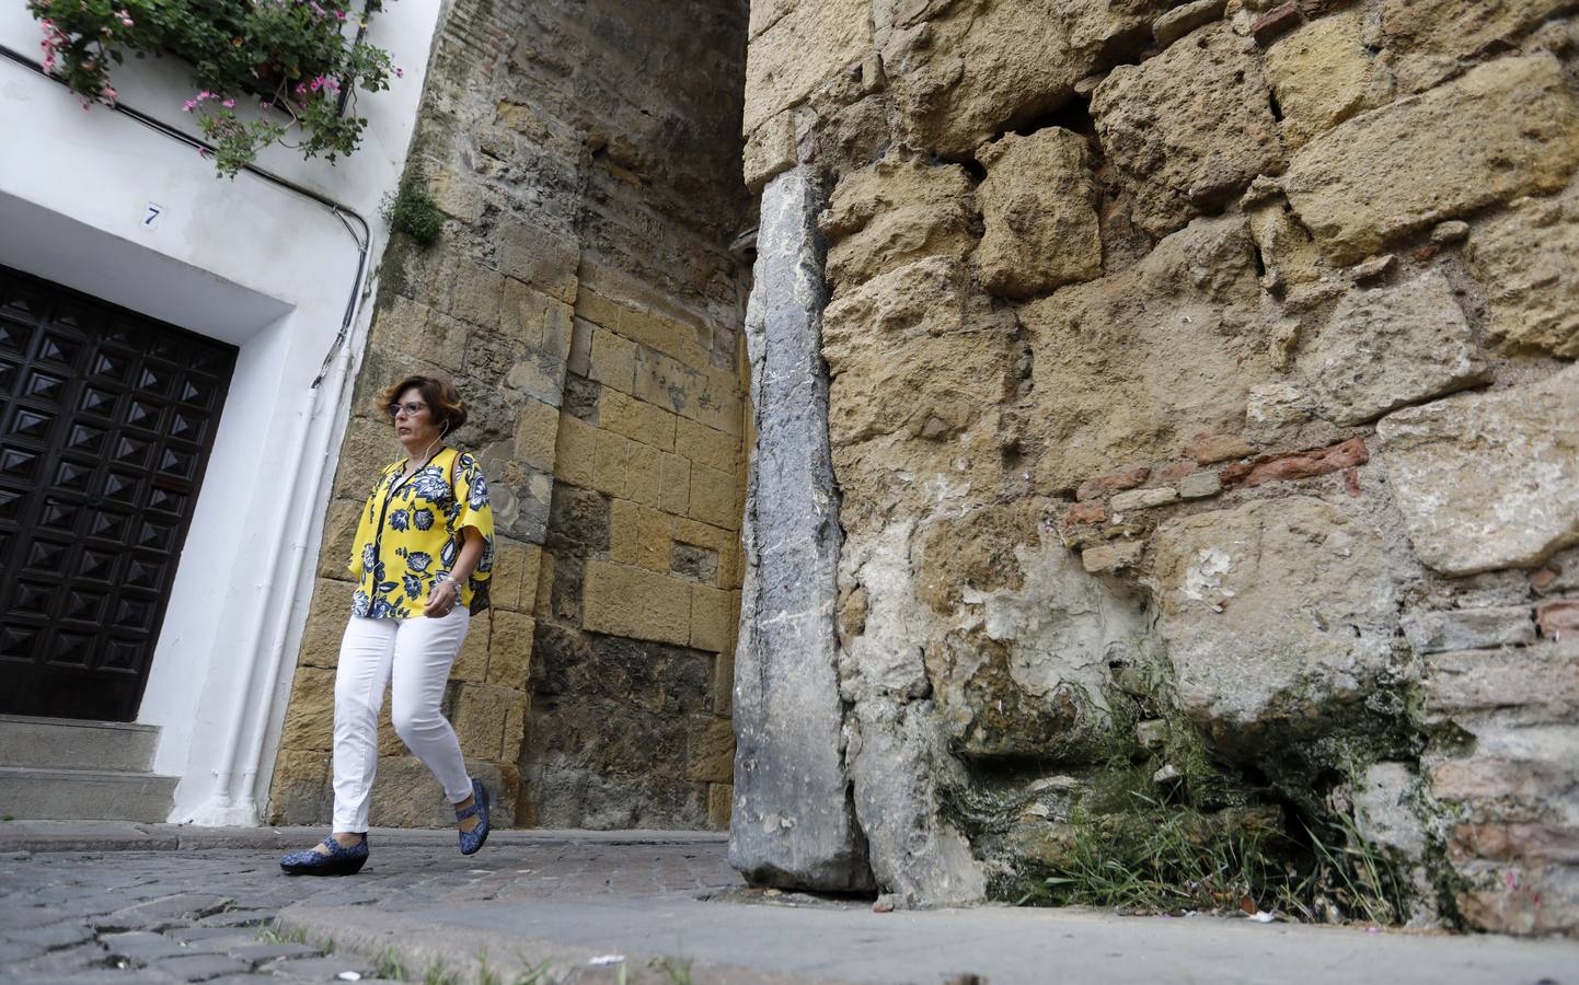
[[[368,830],[379,766],[379,709],[392,676],[390,718],[401,742],[439,778],[450,803],[472,794],[461,743],[439,710],[469,624],[464,608],[439,619],[351,617],[335,671],[336,832]]]

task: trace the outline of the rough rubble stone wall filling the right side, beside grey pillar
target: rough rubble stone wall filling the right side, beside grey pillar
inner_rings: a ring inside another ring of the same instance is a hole
[[[755,0],[750,36],[747,182],[827,200],[861,830],[823,854],[1017,893],[1121,762],[1347,819],[1415,922],[1579,928],[1573,5]]]

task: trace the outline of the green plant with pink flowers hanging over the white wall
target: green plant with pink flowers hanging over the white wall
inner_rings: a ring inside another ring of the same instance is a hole
[[[333,163],[362,142],[355,92],[388,88],[390,54],[354,39],[384,0],[28,0],[44,69],[82,99],[114,104],[126,52],[171,54],[191,69],[182,109],[201,118],[221,175],[281,144]],[[251,110],[256,106],[256,112]]]

